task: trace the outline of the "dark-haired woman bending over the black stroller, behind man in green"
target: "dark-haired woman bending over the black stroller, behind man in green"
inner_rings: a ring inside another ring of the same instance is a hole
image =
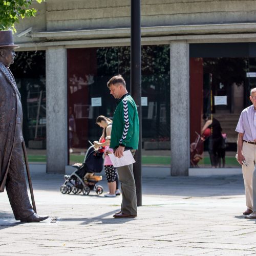
[[[101,116],[98,116],[96,118],[96,124],[99,125],[102,128],[102,135],[99,138],[99,141],[94,141],[93,144],[94,144],[95,147],[107,146],[108,142],[106,142],[105,138],[106,138],[106,136],[111,135],[112,120],[108,117],[105,117],[105,116],[101,115]],[[116,181],[116,193],[115,194],[116,194],[116,196],[119,196],[120,195],[120,190],[119,190],[118,174],[115,176],[115,181]]]

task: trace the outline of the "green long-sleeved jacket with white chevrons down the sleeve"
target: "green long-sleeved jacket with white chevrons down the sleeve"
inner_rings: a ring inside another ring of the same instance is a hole
[[[137,150],[139,145],[139,116],[130,93],[123,95],[119,100],[113,117],[110,147],[119,145],[134,150]]]

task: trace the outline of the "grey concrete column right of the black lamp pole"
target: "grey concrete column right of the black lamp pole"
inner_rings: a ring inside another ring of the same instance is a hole
[[[170,44],[170,148],[172,176],[188,176],[189,168],[189,45]]]

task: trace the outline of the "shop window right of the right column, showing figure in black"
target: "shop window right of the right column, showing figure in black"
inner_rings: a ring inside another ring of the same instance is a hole
[[[240,166],[235,129],[241,111],[251,104],[255,63],[253,57],[190,58],[191,167]],[[210,126],[202,133],[205,123]]]

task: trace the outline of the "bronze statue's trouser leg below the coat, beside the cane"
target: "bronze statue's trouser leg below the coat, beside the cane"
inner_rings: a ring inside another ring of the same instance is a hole
[[[21,143],[14,144],[5,186],[16,220],[34,214],[27,191]]]

